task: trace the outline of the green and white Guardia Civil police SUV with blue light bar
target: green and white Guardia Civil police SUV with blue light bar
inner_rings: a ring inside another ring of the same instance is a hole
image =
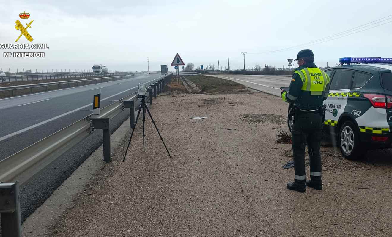
[[[356,160],[370,149],[392,148],[392,58],[344,57],[325,70],[324,130],[336,134],[344,157]],[[289,106],[288,125],[293,124]]]

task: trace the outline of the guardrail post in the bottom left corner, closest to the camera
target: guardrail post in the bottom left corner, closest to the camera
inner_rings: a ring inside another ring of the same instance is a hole
[[[3,237],[22,237],[19,185],[0,184],[0,213]]]

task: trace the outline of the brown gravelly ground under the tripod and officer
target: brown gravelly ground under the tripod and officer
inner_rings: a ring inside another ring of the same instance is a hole
[[[324,189],[290,191],[274,130],[286,111],[260,92],[161,94],[151,112],[172,158],[148,117],[143,153],[138,121],[125,162],[128,137],[51,236],[391,236],[388,152],[352,162],[323,147]]]

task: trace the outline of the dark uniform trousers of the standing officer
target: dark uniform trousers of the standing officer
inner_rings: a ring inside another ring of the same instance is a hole
[[[305,183],[305,143],[308,145],[310,158],[310,179],[321,180],[321,124],[322,116],[319,110],[294,112],[292,134],[292,150],[294,155],[295,181]]]

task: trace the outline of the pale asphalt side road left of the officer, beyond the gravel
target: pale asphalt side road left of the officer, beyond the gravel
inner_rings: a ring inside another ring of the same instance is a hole
[[[290,86],[291,76],[260,76],[260,75],[209,75],[243,84],[244,86],[280,96],[279,87]]]

